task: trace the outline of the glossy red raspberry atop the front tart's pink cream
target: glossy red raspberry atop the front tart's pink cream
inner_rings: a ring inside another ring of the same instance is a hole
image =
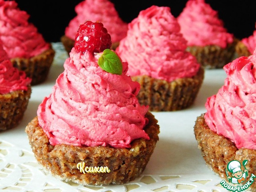
[[[87,20],[80,24],[75,38],[76,52],[102,52],[111,46],[111,37],[101,22]]]

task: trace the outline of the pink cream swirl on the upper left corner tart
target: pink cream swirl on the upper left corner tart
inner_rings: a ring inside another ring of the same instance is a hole
[[[15,1],[0,0],[0,39],[9,58],[31,58],[50,47]]]

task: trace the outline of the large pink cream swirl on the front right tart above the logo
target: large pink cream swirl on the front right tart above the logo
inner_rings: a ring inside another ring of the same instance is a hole
[[[209,128],[237,148],[256,149],[256,52],[224,66],[227,78],[207,99],[204,116]]]

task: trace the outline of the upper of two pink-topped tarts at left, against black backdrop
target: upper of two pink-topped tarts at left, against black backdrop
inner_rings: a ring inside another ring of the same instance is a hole
[[[44,82],[55,51],[28,21],[29,15],[15,1],[0,0],[0,39],[13,66],[32,78],[32,85]]]

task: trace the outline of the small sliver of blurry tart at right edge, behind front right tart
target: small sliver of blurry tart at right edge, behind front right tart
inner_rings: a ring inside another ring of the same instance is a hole
[[[255,24],[255,28],[256,28],[256,24]],[[248,57],[252,55],[255,48],[256,48],[256,30],[254,30],[251,36],[242,38],[242,40],[240,40],[236,44],[237,57],[241,57],[241,56]]]

